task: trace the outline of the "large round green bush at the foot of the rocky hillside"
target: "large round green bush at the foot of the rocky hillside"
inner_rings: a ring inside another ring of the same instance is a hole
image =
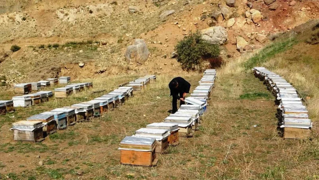
[[[206,59],[220,59],[219,45],[202,40],[200,32],[184,37],[175,46],[175,51],[177,61],[182,64],[184,70],[198,69],[202,61]]]

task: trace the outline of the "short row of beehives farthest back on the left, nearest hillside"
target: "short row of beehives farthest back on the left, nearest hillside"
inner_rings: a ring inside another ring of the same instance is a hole
[[[50,86],[56,86],[60,84],[69,84],[71,78],[69,76],[63,76],[58,78],[49,78],[46,81],[20,83],[13,86],[14,93],[16,94],[29,94],[32,91],[39,91],[41,88]]]

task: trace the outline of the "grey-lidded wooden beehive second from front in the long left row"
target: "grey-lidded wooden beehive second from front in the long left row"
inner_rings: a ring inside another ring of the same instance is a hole
[[[56,120],[52,114],[35,114],[26,119],[27,121],[42,121],[44,137],[53,134],[57,130]]]

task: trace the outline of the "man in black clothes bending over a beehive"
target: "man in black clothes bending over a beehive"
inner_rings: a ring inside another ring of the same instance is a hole
[[[169,82],[168,87],[171,91],[171,95],[173,96],[172,100],[172,113],[174,114],[177,111],[177,99],[179,99],[180,106],[185,104],[185,96],[189,93],[190,84],[182,77],[175,77]]]

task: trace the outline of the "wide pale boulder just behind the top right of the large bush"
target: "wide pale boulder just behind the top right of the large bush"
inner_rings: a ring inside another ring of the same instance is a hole
[[[201,30],[202,39],[211,44],[224,44],[227,40],[227,31],[224,27],[213,26]]]

